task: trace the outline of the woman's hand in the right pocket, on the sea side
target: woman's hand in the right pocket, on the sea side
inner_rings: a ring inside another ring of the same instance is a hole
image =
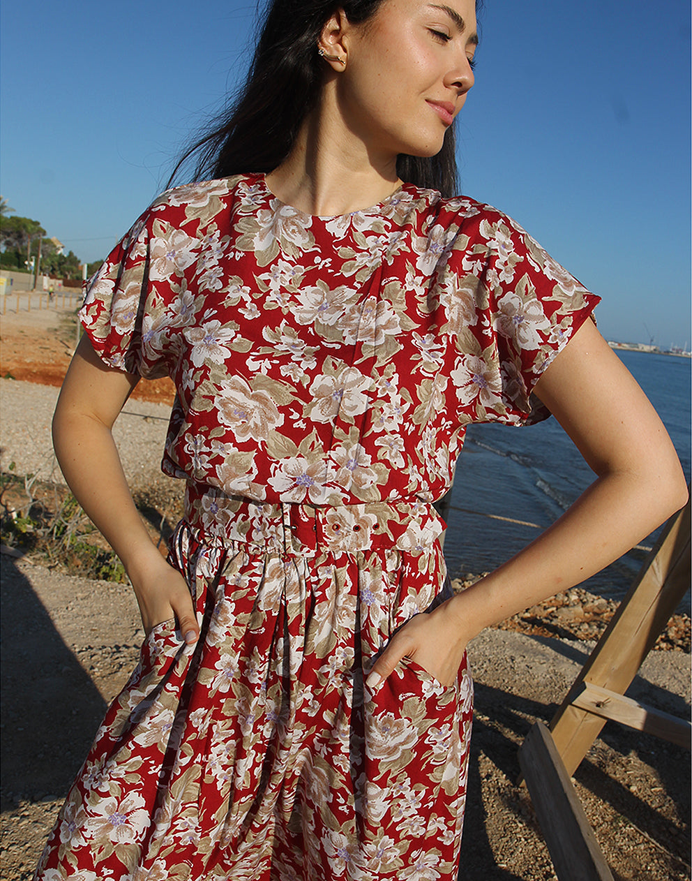
[[[450,602],[447,600],[435,611],[416,615],[394,633],[365,680],[371,692],[378,689],[405,657],[423,667],[441,685],[454,684],[466,651],[467,637],[463,635],[458,619],[449,614]]]

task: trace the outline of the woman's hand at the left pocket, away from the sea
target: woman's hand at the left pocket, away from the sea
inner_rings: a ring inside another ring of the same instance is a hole
[[[195,618],[195,607],[185,579],[177,569],[173,569],[151,545],[153,554],[148,554],[137,573],[129,573],[135,589],[135,596],[142,616],[144,633],[149,635],[153,627],[175,618],[180,633],[188,643],[199,639],[199,626]]]

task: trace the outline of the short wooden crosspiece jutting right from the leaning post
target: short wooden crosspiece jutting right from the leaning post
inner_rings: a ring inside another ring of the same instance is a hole
[[[572,706],[690,749],[692,723],[663,710],[647,707],[627,695],[585,682],[583,691],[572,700]]]

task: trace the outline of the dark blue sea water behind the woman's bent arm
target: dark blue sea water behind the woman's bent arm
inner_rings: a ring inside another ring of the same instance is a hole
[[[619,350],[659,412],[690,479],[692,359]],[[475,425],[457,465],[447,513],[450,575],[487,572],[537,537],[594,479],[556,419],[522,428]],[[594,594],[620,599],[637,575],[657,529],[637,548],[585,581]],[[584,548],[585,555],[589,549]],[[683,608],[689,611],[689,594]]]

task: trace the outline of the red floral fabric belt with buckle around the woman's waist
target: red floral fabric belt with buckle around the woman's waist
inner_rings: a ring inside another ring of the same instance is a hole
[[[258,502],[188,483],[185,520],[207,540],[238,541],[277,552],[354,552],[396,548],[421,553],[445,529],[430,502],[364,502],[339,507]]]

